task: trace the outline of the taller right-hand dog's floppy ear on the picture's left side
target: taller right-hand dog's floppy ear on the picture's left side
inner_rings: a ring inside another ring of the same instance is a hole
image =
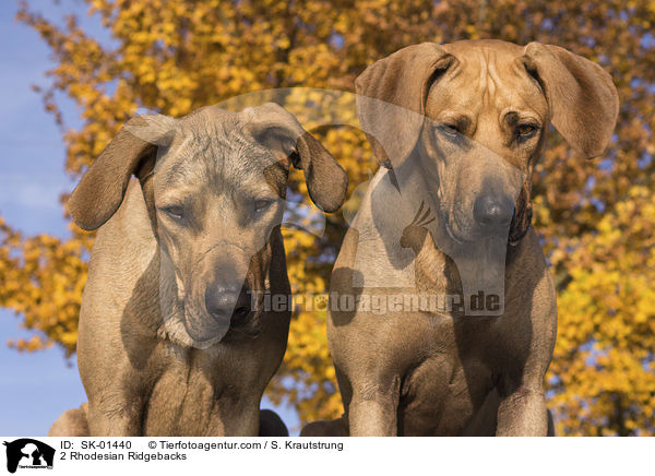
[[[434,43],[403,48],[355,80],[357,115],[373,154],[386,168],[414,150],[432,81],[456,61]]]

